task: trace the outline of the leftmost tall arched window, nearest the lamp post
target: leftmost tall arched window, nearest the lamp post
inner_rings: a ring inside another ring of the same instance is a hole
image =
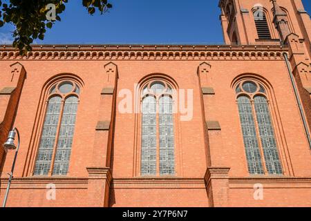
[[[60,81],[50,89],[34,175],[68,173],[78,103],[74,81]]]

